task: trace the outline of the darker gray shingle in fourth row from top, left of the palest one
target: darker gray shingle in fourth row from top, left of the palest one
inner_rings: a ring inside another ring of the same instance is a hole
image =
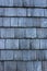
[[[14,37],[15,38],[24,38],[25,35],[25,28],[15,28],[14,29]]]

